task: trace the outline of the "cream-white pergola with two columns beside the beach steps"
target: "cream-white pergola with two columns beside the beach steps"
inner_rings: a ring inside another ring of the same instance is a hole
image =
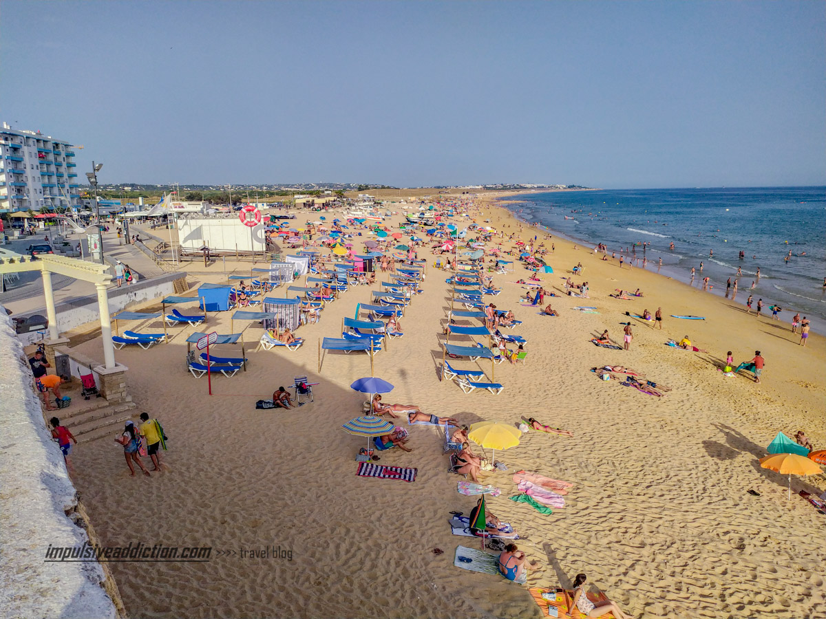
[[[74,279],[88,281],[95,285],[103,340],[103,366],[107,370],[114,370],[116,368],[115,347],[112,346],[112,320],[109,317],[109,296],[107,294],[107,286],[112,283],[112,276],[107,272],[108,269],[107,265],[97,264],[97,262],[87,262],[79,258],[67,258],[50,253],[39,254],[36,259],[8,250],[0,254],[0,274],[40,271],[43,276],[46,318],[49,319],[49,338],[53,342],[59,339],[60,333],[55,312],[55,292],[52,290],[52,273],[74,277]]]

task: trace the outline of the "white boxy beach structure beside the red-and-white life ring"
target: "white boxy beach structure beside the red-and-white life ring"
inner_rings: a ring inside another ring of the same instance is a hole
[[[252,234],[238,217],[231,219],[181,218],[178,220],[178,239],[181,247],[197,251],[207,245],[216,252],[264,252],[267,249],[263,224],[255,226]]]

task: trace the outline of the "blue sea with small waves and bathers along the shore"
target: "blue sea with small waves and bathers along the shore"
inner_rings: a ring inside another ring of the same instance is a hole
[[[609,256],[622,253],[634,267],[645,262],[697,287],[707,276],[719,295],[729,277],[738,280],[739,303],[751,294],[754,305],[779,305],[785,322],[800,312],[826,333],[826,187],[552,191],[506,200],[520,220],[591,249],[605,243]]]

